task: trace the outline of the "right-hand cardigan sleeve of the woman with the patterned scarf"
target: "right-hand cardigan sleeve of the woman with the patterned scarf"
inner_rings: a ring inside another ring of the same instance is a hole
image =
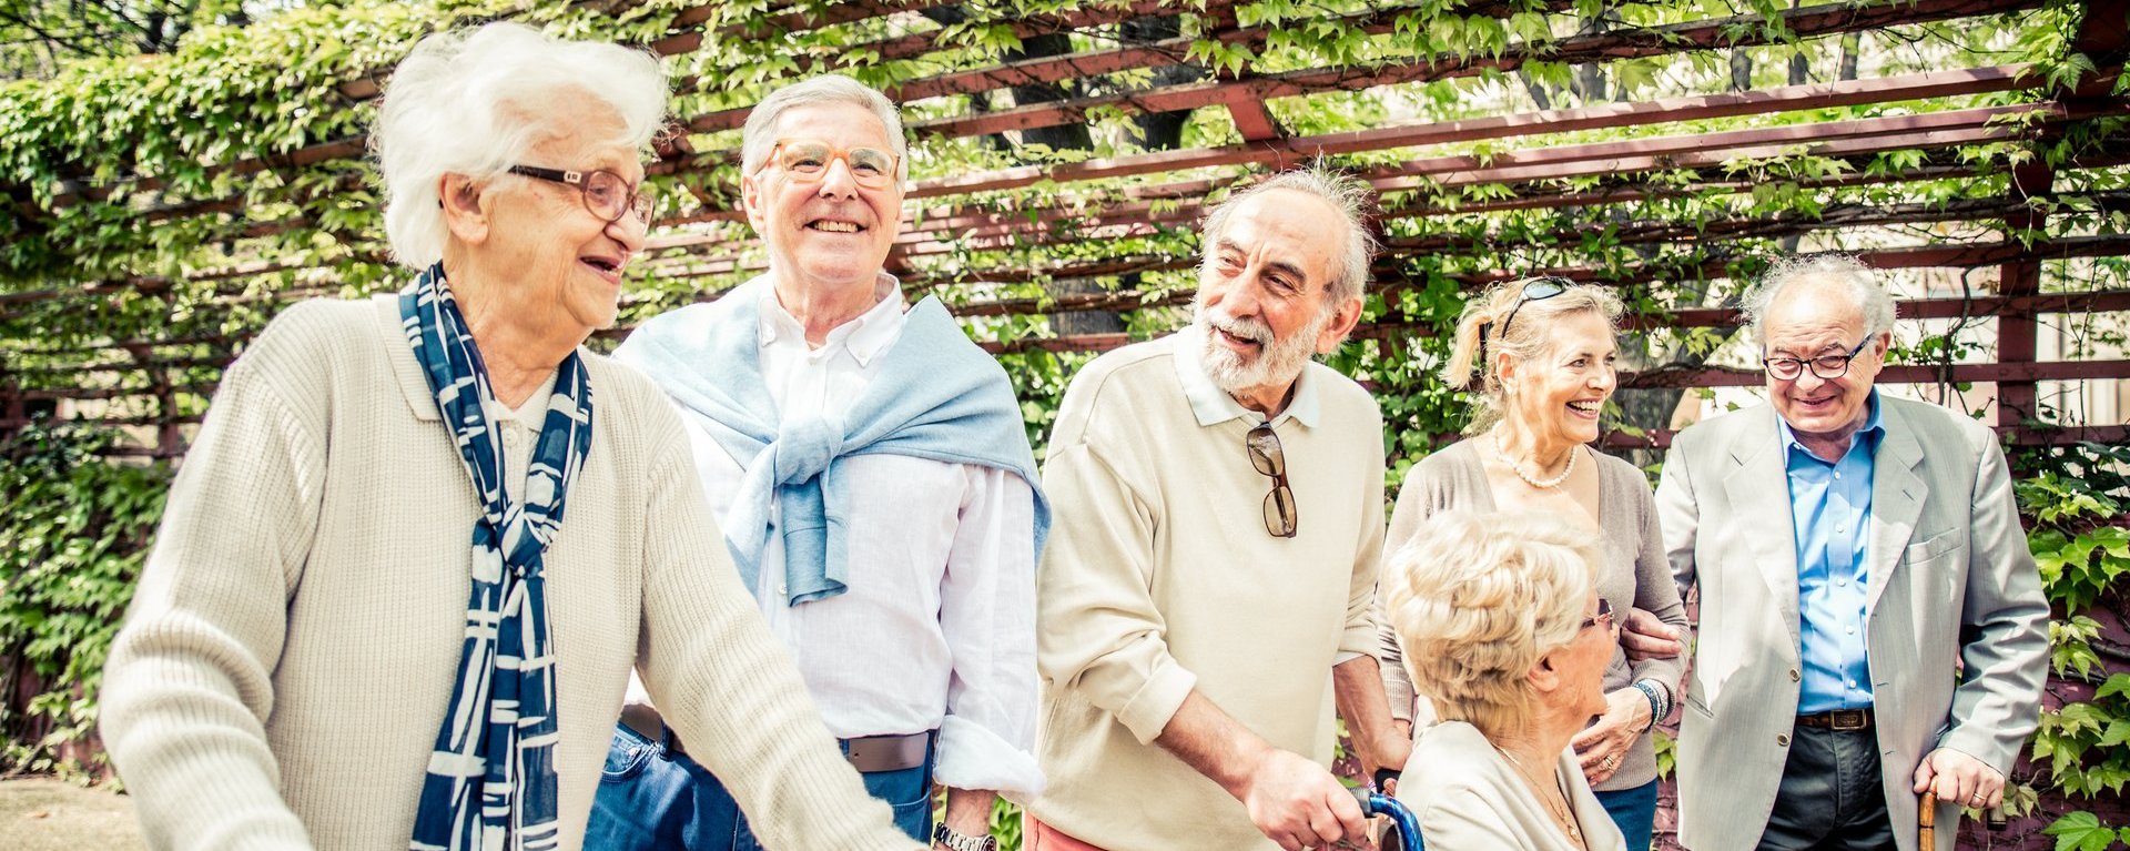
[[[767,847],[916,849],[865,791],[790,655],[739,582],[667,405],[645,410],[643,623],[637,670],[688,755],[718,774]]]

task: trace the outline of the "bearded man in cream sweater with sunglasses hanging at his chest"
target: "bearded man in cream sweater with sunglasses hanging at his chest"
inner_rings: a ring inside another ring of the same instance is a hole
[[[1206,220],[1195,322],[1086,365],[1044,488],[1031,851],[1329,847],[1333,695],[1402,768],[1376,670],[1382,418],[1312,363],[1361,318],[1365,183],[1276,175]]]

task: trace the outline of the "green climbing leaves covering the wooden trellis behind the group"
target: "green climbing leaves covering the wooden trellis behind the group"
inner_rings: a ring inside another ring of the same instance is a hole
[[[43,79],[0,83],[0,194],[6,196],[0,203],[0,371],[13,384],[11,390],[96,399],[106,418],[196,418],[207,407],[207,392],[219,380],[222,365],[283,305],[305,296],[345,299],[396,286],[400,273],[388,262],[373,168],[360,156],[317,162],[305,158],[302,164],[290,162],[290,156],[313,145],[360,141],[375,111],[366,92],[420,36],[435,30],[515,17],[554,34],[630,45],[650,45],[675,32],[701,36],[694,49],[662,60],[677,81],[675,115],[694,119],[748,107],[775,85],[824,70],[890,87],[995,66],[1029,45],[1029,30],[1016,30],[1016,21],[1118,11],[1127,4],[971,0],[929,9],[954,6],[961,15],[954,19],[912,11],[820,23],[848,4],[349,0],[290,2],[281,6],[296,9],[236,28],[215,23],[234,4],[198,2],[194,6],[200,17],[185,38],[151,51],[155,55],[75,60],[38,75]],[[1384,215],[1378,220],[1393,252],[1378,264],[1380,286],[1365,307],[1365,322],[1378,326],[1378,333],[1329,358],[1336,369],[1365,382],[1380,401],[1395,491],[1414,461],[1457,435],[1472,418],[1472,399],[1446,388],[1442,367],[1448,360],[1451,328],[1476,282],[1580,269],[1587,277],[1619,286],[1629,320],[1644,328],[1632,333],[1623,348],[1646,356],[1646,367],[1738,365],[1740,346],[1732,339],[1736,328],[1678,328],[1668,318],[1685,309],[1736,305],[1742,282],[1757,275],[1770,256],[2130,232],[2130,213],[2111,196],[2130,190],[2130,168],[2087,164],[2119,160],[2130,124],[2113,117],[2043,122],[2038,113],[2030,113],[1996,124],[2013,139],[1868,154],[1798,141],[1717,151],[1700,160],[1664,154],[1632,173],[1591,168],[1538,177],[1472,177],[1514,166],[1531,151],[1568,145],[1655,143],[1810,122],[1926,117],[1970,107],[2024,105],[2047,98],[2045,90],[2090,81],[2096,73],[2094,58],[2072,49],[2081,4],[2064,0],[2015,15],[1864,32],[1853,43],[1787,28],[1779,15],[1793,6],[1779,0],[1250,0],[1210,9],[1199,0],[1169,4],[1165,13],[1178,19],[1180,45],[1186,45],[1178,53],[1208,77],[1333,73],[1340,83],[1325,92],[1263,105],[1293,137],[1681,98],[1734,87],[1764,90],[1796,81],[1830,83],[1845,79],[1845,62],[1851,77],[2011,62],[2034,66],[2041,90],[1674,119],[1638,128],[1549,128],[1514,141],[1480,139],[1325,158],[1327,164],[1350,171],[1395,171],[1395,177],[1380,181]],[[1849,9],[1868,13],[1887,6],[1900,4],[1866,0]],[[688,23],[675,28],[684,13],[690,15]],[[1676,32],[1670,28],[1710,19],[1723,19],[1717,49],[1627,55],[1602,64],[1563,53],[1566,43],[1598,34],[1617,36],[1621,45],[1668,45]],[[1263,32],[1252,36],[1252,28]],[[1065,36],[1076,51],[1123,47],[1116,28],[1078,28]],[[895,45],[912,38],[929,41],[927,49],[899,53]],[[1502,64],[1506,58],[1523,62]],[[1419,66],[1431,73],[1361,87],[1372,73]],[[2115,87],[2121,90],[2126,81]],[[1148,68],[1067,83],[1082,96],[1157,85]],[[1007,90],[958,92],[905,105],[905,119],[920,126],[1014,107],[1025,105],[1016,105]],[[1010,132],[914,132],[912,177],[933,181],[1029,164],[1052,173],[1074,162],[1144,154],[1146,134],[1135,124],[1137,117],[1129,105],[1088,109],[1082,119],[1088,130],[1086,149],[1052,149]],[[660,218],[709,218],[735,207],[737,166],[720,154],[737,147],[737,137],[731,128],[684,134],[692,154],[677,154],[665,164],[671,173],[652,177],[669,198]],[[1242,134],[1225,107],[1201,107],[1186,115],[1182,141],[1186,147],[1240,145]],[[1470,162],[1448,171],[1408,168],[1455,156]],[[264,166],[228,168],[247,160]],[[2006,198],[2015,190],[2015,171],[2032,164],[2055,168],[2055,194],[2028,200],[2034,211],[2047,213],[2043,226],[1943,215],[1964,203]],[[1067,284],[1078,288],[1074,292],[1093,288],[1135,296],[1144,307],[1123,311],[1120,322],[1133,339],[1154,337],[1189,316],[1180,303],[1195,286],[1191,258],[1199,247],[1197,203],[1220,198],[1255,171],[1203,164],[1088,181],[1039,179],[1020,188],[914,200],[912,226],[935,230],[922,247],[910,250],[903,273],[912,296],[937,294],[952,307],[1010,299],[1054,303]],[[1583,200],[1555,203],[1557,198]],[[1131,211],[1125,222],[1120,209]],[[1887,209],[1902,209],[1904,218],[1870,228],[1838,226]],[[948,228],[941,218],[995,218],[1018,230],[1001,237],[997,230]],[[758,273],[765,262],[760,245],[741,222],[703,220],[660,228],[658,235],[690,237],[709,247],[645,252],[645,260],[630,267],[624,324],[714,296]],[[2126,277],[2130,262],[2119,258],[2047,260],[2043,290],[2121,288]],[[1050,343],[1059,335],[1056,324],[1042,314],[982,316],[965,324],[980,341],[1016,346],[1014,354],[999,360],[1020,395],[1029,437],[1042,450],[1074,369],[1091,354],[1069,343],[1059,343],[1056,350],[1025,348]],[[1904,337],[1908,328],[1911,324],[1902,326]],[[1915,339],[1902,339],[1896,360],[1951,365],[1989,352],[1989,339],[1977,324],[1917,328]],[[2121,331],[2111,331],[2104,322],[2079,320],[2075,331],[2075,348],[2083,354],[2126,343]],[[594,341],[607,343],[611,339]],[[168,392],[160,392],[164,388]],[[1666,399],[1640,407],[1617,399],[1608,427],[1625,433],[1664,429],[1670,424]],[[2047,412],[2041,418],[2047,420]],[[138,565],[138,540],[126,535],[145,535],[153,520],[147,503],[109,501],[124,493],[134,495],[126,499],[160,495],[160,482],[168,476],[164,467],[83,465],[79,452],[94,452],[100,437],[85,431],[55,435],[62,431],[32,431],[21,439],[34,446],[72,446],[68,452],[77,452],[75,461],[34,461],[64,452],[23,450],[28,461],[0,465],[0,495],[19,501],[21,518],[11,516],[0,544],[34,540],[43,546],[11,546],[0,557],[13,559],[0,561],[9,565],[9,574],[0,574],[0,582],[6,582],[0,587],[0,619],[9,619],[0,621],[0,638],[15,642],[17,636],[49,636],[38,644],[38,653],[49,653],[38,659],[55,668],[38,672],[38,678],[55,683],[55,691],[47,691],[32,712],[38,723],[60,723],[53,729],[58,738],[17,744],[19,753],[11,757],[15,761],[49,761],[55,740],[87,729],[96,665],[75,659],[100,663],[94,612],[111,610],[115,616],[126,593],[121,580],[98,576],[130,576],[126,572]],[[2019,482],[2019,499],[2034,516],[2032,548],[2051,601],[2064,612],[2051,625],[2055,670],[2092,689],[2081,693],[2083,700],[2051,712],[2036,736],[2036,761],[2049,766],[2049,783],[2075,796],[2119,789],[2126,766],[2126,749],[2115,729],[2130,717],[2130,706],[2121,691],[2100,693],[2117,676],[2111,672],[2107,608],[2121,606],[2121,572],[2130,548],[2121,523],[2111,520],[2124,514],[2130,499],[2119,476],[2109,478],[2111,469],[2121,471],[2130,463],[2121,452],[2070,448],[2015,459],[2021,469],[2036,471]],[[60,476],[58,469],[66,473]],[[92,482],[81,484],[77,476]],[[141,480],[117,480],[126,476]],[[36,491],[11,486],[32,480],[47,484]],[[94,508],[79,514],[77,501]],[[106,535],[117,537],[98,548]],[[51,542],[75,542],[75,548]],[[85,576],[79,589],[70,584],[77,582],[75,572]],[[81,595],[68,597],[62,591]],[[30,719],[0,719],[0,725],[15,740]],[[1010,813],[1010,806],[1001,804],[999,813]],[[2107,825],[2096,817],[2083,828],[2092,830],[2079,832],[2077,842],[2092,840]]]

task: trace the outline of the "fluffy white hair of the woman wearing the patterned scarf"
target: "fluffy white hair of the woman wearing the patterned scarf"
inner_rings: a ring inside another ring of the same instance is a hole
[[[558,96],[564,90],[573,92]],[[409,269],[443,258],[443,175],[475,183],[503,175],[541,139],[571,132],[586,98],[622,119],[616,143],[643,147],[665,122],[667,92],[648,51],[562,41],[524,23],[422,38],[392,70],[371,130],[392,256]]]

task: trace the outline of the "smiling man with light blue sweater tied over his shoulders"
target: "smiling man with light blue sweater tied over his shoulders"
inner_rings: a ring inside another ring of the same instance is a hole
[[[1044,785],[1048,514],[1020,405],[937,299],[910,305],[884,271],[907,181],[888,98],[816,77],[756,105],[741,134],[769,271],[645,322],[616,358],[679,405],[741,582],[867,789],[912,838],[986,851],[995,796]],[[694,759],[724,742],[679,740],[673,710],[701,708],[622,712],[588,849],[760,847],[748,821],[769,813],[741,817],[741,789]]]

